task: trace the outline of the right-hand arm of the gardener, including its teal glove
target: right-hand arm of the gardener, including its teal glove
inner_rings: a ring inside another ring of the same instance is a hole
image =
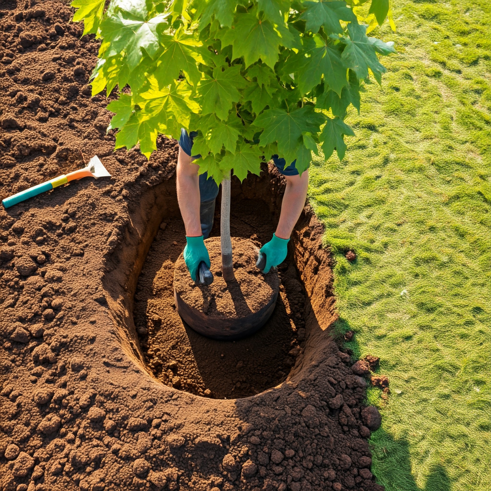
[[[261,252],[266,255],[266,266],[263,273],[268,273],[271,268],[285,260],[290,235],[307,198],[308,170],[304,171],[301,176],[285,176],[285,179],[286,189],[281,202],[281,214],[276,232],[273,234],[273,239],[261,247]],[[262,267],[262,265],[259,266],[261,257],[258,258],[257,264],[258,267]]]

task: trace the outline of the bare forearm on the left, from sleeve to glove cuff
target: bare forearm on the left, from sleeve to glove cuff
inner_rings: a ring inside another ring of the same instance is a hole
[[[199,166],[191,163],[191,157],[179,149],[177,158],[177,200],[188,237],[202,235],[199,221]]]

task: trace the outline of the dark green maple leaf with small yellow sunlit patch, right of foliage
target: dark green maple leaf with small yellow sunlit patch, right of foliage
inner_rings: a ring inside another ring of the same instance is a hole
[[[298,71],[300,92],[309,92],[324,77],[329,87],[340,94],[348,81],[346,80],[347,65],[339,50],[322,36],[315,34],[313,38],[305,39],[304,51],[300,53],[296,57],[298,64],[294,66]]]

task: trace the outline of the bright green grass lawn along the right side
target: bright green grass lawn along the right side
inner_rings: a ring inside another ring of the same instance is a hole
[[[374,35],[398,55],[309,195],[337,260],[336,329],[390,380],[387,401],[368,393],[378,482],[491,490],[491,3],[394,3],[397,32]]]

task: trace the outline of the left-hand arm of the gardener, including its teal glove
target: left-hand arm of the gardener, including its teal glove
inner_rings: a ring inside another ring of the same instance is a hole
[[[191,274],[197,281],[198,267],[202,261],[210,268],[210,256],[203,242],[201,223],[199,219],[199,166],[192,164],[191,157],[179,148],[177,158],[177,201],[186,227],[186,247],[184,261]]]

